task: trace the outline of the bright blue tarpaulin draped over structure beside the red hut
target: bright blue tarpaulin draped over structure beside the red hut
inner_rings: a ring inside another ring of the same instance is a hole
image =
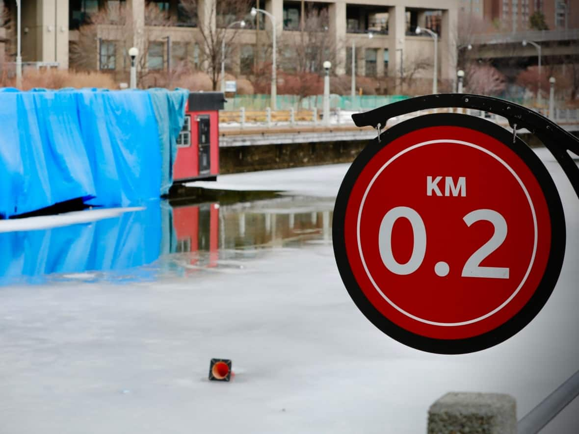
[[[124,207],[167,193],[187,97],[0,89],[0,218],[75,198]]]

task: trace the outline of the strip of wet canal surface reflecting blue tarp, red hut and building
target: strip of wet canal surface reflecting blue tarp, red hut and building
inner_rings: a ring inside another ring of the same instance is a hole
[[[149,204],[114,218],[0,233],[0,284],[143,281],[239,266],[264,249],[331,240],[334,201]]]

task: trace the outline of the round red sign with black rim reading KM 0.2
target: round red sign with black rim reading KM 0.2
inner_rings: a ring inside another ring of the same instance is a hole
[[[354,162],[334,245],[350,295],[385,333],[470,352],[508,339],[547,301],[565,222],[525,144],[485,120],[429,115],[391,128]]]

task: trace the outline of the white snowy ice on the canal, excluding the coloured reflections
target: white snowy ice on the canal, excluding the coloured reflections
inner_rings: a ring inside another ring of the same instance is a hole
[[[448,391],[510,393],[522,417],[579,369],[579,201],[544,157],[566,259],[551,299],[512,339],[454,356],[397,343],[354,306],[329,242],[262,251],[228,273],[7,287],[0,433],[424,433],[428,406]],[[317,195],[337,192],[346,169],[220,178]],[[214,357],[233,359],[232,382],[207,380]],[[554,424],[544,432],[579,432],[576,411]]]

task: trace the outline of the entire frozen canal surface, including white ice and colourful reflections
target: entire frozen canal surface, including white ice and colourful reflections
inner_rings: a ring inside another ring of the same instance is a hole
[[[404,347],[354,306],[331,245],[347,165],[217,183],[291,192],[267,200],[0,222],[0,434],[424,433],[448,391],[510,393],[522,417],[579,369],[579,200],[538,153],[567,220],[558,286],[469,355]],[[231,382],[207,380],[215,357]],[[579,432],[577,401],[544,432]]]

